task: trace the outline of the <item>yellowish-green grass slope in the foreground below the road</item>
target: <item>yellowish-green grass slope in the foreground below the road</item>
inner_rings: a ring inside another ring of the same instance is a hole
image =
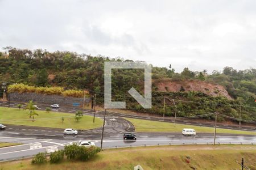
[[[255,169],[256,146],[159,146],[105,150],[87,162],[64,160],[59,164],[32,165],[31,160],[0,163],[9,169],[240,169],[241,159],[246,167]]]

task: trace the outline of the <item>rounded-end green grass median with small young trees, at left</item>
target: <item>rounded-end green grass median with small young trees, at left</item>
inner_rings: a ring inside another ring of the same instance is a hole
[[[75,114],[58,113],[46,111],[35,111],[39,116],[34,116],[35,121],[29,118],[28,110],[18,108],[0,107],[0,122],[2,124],[40,126],[47,128],[73,128],[73,129],[93,129],[102,126],[103,121],[100,118],[95,118],[93,124],[92,116],[83,116],[79,122],[75,120]],[[62,122],[61,118],[64,118]]]

